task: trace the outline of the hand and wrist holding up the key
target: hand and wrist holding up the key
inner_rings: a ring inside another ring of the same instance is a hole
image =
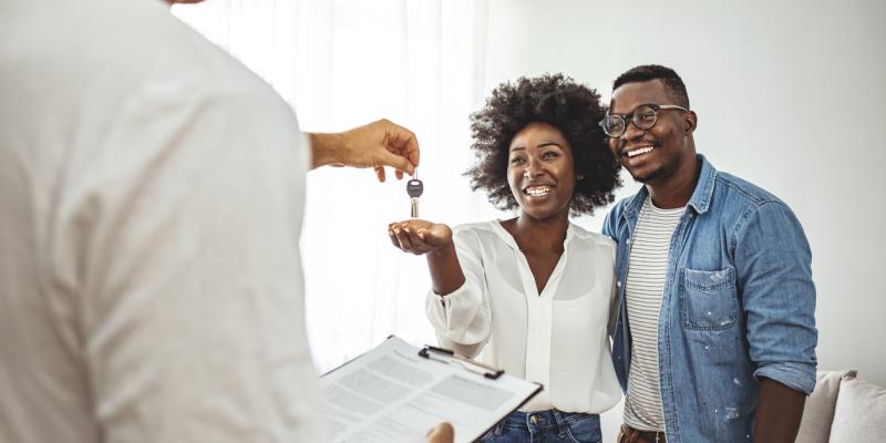
[[[398,179],[419,166],[415,134],[388,120],[379,120],[334,134],[310,134],[312,166],[371,167],[384,182],[384,167],[393,167]]]

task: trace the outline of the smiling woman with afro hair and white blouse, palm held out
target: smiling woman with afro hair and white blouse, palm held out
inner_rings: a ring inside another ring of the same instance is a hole
[[[472,116],[478,163],[468,175],[519,215],[389,227],[394,246],[427,257],[440,343],[545,388],[484,442],[598,442],[598,414],[619,401],[607,334],[615,243],[569,222],[620,185],[595,124],[602,115],[599,95],[562,74],[499,85]]]

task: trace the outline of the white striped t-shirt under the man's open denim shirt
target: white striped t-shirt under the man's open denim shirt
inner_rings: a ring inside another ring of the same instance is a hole
[[[632,346],[625,423],[637,430],[664,431],[658,383],[658,319],[671,236],[684,210],[657,208],[647,197],[630,239],[625,297]]]

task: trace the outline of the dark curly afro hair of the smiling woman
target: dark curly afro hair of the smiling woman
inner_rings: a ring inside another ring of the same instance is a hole
[[[519,78],[498,85],[486,105],[471,115],[477,164],[465,173],[471,188],[483,189],[498,209],[519,207],[507,183],[511,142],[529,123],[546,123],[559,130],[573,152],[576,181],[573,214],[594,214],[594,208],[615,200],[621,185],[621,165],[607,146],[597,122],[606,115],[596,90],[563,74]]]

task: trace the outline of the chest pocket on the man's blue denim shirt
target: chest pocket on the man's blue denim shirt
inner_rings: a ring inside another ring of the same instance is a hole
[[[735,268],[680,269],[680,322],[686,329],[718,331],[735,324]]]

